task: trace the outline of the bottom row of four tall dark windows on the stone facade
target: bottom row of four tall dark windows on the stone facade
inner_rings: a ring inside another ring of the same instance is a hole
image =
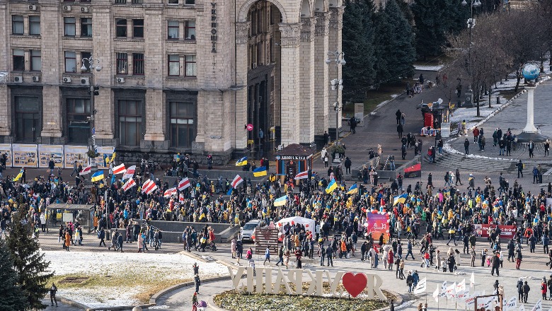
[[[42,128],[42,114],[39,99],[16,96],[15,132],[18,141],[36,142]],[[88,98],[67,98],[67,140],[69,143],[87,144],[91,136],[88,117],[91,104]],[[119,143],[122,146],[139,146],[144,139],[143,105],[141,100],[117,100],[117,122]],[[195,140],[194,102],[168,102],[169,140],[173,148],[190,148]]]

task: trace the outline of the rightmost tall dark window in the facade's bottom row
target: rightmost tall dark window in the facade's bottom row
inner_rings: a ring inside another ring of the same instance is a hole
[[[193,102],[169,102],[171,147],[191,147],[195,140],[195,105]]]

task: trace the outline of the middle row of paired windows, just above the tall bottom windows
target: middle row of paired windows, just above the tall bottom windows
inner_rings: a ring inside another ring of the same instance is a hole
[[[25,69],[25,50],[13,49],[13,71],[40,71],[42,69],[42,58],[39,50],[29,50],[30,67]],[[90,52],[64,52],[64,66],[66,73],[76,73],[80,71],[79,59],[91,57]],[[142,76],[145,74],[144,53],[117,53],[117,74],[129,74],[129,67],[132,67],[132,75]],[[177,54],[169,54],[167,56],[167,72],[168,76],[197,76],[197,64],[195,55],[180,56]],[[129,64],[132,61],[132,64]],[[183,66],[180,66],[183,64]],[[86,71],[90,71],[90,64],[84,62]],[[183,73],[183,74],[181,74]]]

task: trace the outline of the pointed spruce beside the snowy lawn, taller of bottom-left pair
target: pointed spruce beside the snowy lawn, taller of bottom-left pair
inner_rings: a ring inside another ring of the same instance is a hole
[[[44,309],[42,298],[48,293],[47,281],[53,273],[45,273],[50,262],[44,261],[44,254],[40,254],[37,240],[33,238],[33,226],[25,221],[28,213],[26,204],[13,214],[13,222],[9,227],[10,235],[6,245],[11,252],[13,268],[17,273],[18,286],[21,286],[23,297],[31,309]]]

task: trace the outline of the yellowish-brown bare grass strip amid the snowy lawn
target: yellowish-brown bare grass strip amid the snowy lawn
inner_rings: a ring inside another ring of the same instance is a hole
[[[79,282],[67,282],[67,280],[78,279]],[[140,303],[148,303],[151,295],[158,293],[163,288],[191,281],[191,279],[168,278],[159,274],[125,274],[124,272],[116,275],[107,274],[88,274],[86,279],[82,274],[62,274],[52,277],[51,282],[56,283],[59,289],[67,288],[143,288],[140,293],[132,298],[139,300]],[[50,285],[48,283],[47,285]]]

